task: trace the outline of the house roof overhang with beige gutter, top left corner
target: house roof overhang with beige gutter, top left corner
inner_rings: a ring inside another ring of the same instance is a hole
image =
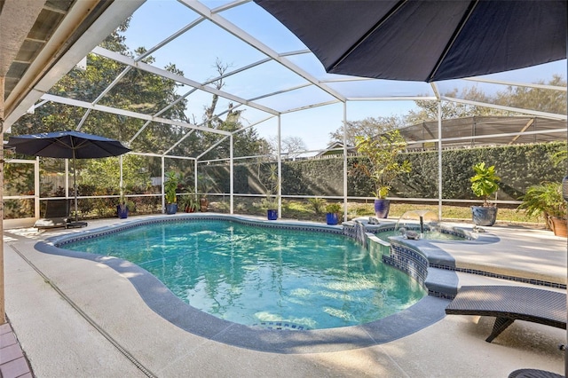
[[[0,0],[4,131],[146,0]]]

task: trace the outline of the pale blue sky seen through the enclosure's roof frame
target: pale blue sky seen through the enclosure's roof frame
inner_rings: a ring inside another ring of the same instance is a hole
[[[227,3],[215,0],[203,2],[212,9]],[[255,36],[274,51],[283,53],[305,49],[304,44],[295,35],[292,35],[280,22],[274,20],[270,14],[264,12],[253,2],[221,12],[220,15],[248,34]],[[173,35],[177,30],[184,28],[185,25],[196,19],[197,16],[193,11],[176,1],[148,0],[133,14],[130,20],[130,28],[126,33],[126,43],[131,50],[138,46],[150,49],[156,43],[160,43],[164,38]],[[201,22],[152,55],[156,59],[155,66],[165,67],[169,63],[175,63],[177,68],[184,71],[185,77],[199,83],[217,75],[214,67],[216,59],[220,59],[228,66],[228,71],[232,71],[265,58],[263,53],[256,51],[247,43],[242,43],[235,36],[217,28],[209,21]],[[312,54],[298,55],[288,59],[319,80],[341,77],[326,74],[319,61]],[[540,80],[548,81],[552,74],[566,77],[565,59],[541,67],[495,75],[495,77],[517,83],[535,83]],[[487,77],[492,76],[488,75]],[[266,92],[281,91],[301,83],[304,83],[302,78],[290,75],[287,69],[272,62],[228,77],[225,80],[223,90],[241,98],[255,98]],[[472,85],[464,81],[447,81],[438,85],[440,91],[444,93],[459,88],[464,83]],[[359,82],[357,85],[333,83],[329,86],[339,88],[344,93],[363,93],[364,96],[368,97],[416,96],[432,95],[433,93],[430,84],[427,83],[368,81]],[[495,91],[494,85],[486,85],[485,88],[487,91],[492,91],[492,88]],[[500,86],[499,90],[504,89],[504,86]],[[183,94],[189,90],[190,88],[185,87],[179,91]],[[288,108],[306,106],[312,101],[326,102],[330,99],[332,98],[329,95],[322,94],[320,91],[299,90],[288,95],[256,100],[256,102],[282,111]],[[204,106],[209,105],[210,95],[201,92],[201,94],[191,95],[188,100],[187,114],[195,114],[196,118],[201,120]],[[225,109],[227,104],[228,100],[220,99],[217,109]],[[414,101],[408,100],[350,101],[347,106],[347,120],[355,121],[367,117],[406,114],[414,107]],[[264,119],[268,114],[248,107],[243,116],[243,123],[248,125]],[[283,114],[280,122],[281,137],[300,137],[304,140],[308,149],[322,149],[330,143],[329,133],[340,128],[342,122],[343,104],[341,103]],[[255,128],[261,137],[273,138],[277,133],[277,121],[272,119],[262,122],[257,124]]]

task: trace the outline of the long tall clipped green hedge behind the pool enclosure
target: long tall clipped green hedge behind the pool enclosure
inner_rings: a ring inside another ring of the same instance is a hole
[[[565,143],[518,146],[475,147],[445,150],[442,153],[442,196],[445,199],[474,200],[469,188],[473,165],[479,161],[495,165],[501,177],[498,199],[518,200],[530,185],[542,181],[560,182],[565,167],[554,166],[550,154],[566,148]],[[412,164],[412,171],[398,177],[390,192],[391,197],[438,198],[438,152],[409,152],[402,154]],[[370,197],[372,186],[367,177],[352,169],[360,157],[348,159],[348,195]],[[269,164],[262,163],[264,172]],[[229,169],[226,165],[203,166],[200,171],[215,177],[215,192],[229,192]],[[263,194],[257,177],[257,163],[237,163],[234,166],[234,193]],[[262,173],[261,173],[262,176]],[[282,161],[282,193],[284,195],[341,196],[343,195],[343,158]]]

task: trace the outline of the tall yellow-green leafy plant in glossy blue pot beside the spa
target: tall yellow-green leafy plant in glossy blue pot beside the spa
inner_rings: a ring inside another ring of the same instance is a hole
[[[398,155],[406,149],[406,140],[398,130],[390,130],[378,138],[355,137],[357,152],[367,158],[367,164],[356,164],[355,169],[373,181],[375,215],[389,216],[387,200],[394,180],[402,173],[410,172],[410,161],[398,161]]]

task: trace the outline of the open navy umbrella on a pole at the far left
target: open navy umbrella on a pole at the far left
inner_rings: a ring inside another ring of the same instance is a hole
[[[126,154],[130,148],[118,140],[79,131],[55,131],[10,137],[8,146],[17,154],[73,159],[75,188],[75,223],[77,222],[77,183],[75,159],[94,159]]]

